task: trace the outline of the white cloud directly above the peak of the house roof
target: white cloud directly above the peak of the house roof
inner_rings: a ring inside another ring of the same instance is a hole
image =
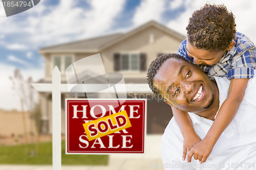
[[[161,21],[161,15],[165,10],[165,1],[142,0],[133,17],[135,26],[149,20]]]

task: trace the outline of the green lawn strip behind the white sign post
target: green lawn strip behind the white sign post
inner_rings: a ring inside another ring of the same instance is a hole
[[[61,164],[62,165],[107,165],[108,155],[66,155],[65,141],[61,142]],[[0,147],[0,164],[52,164],[52,142],[39,144],[36,156],[25,153],[25,145]]]

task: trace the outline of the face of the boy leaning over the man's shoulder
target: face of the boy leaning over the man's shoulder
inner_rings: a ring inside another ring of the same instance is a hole
[[[186,44],[187,55],[194,58],[195,64],[212,65],[218,63],[225,53],[225,50],[218,52],[209,52],[207,50],[198,49],[187,41]]]

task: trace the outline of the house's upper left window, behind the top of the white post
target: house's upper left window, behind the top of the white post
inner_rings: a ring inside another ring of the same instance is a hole
[[[52,66],[58,67],[59,71],[65,73],[66,68],[74,62],[73,56],[53,56],[52,57]]]

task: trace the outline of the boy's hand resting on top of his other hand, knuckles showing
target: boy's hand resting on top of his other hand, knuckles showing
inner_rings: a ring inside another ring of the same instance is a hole
[[[191,157],[194,155],[195,160],[199,160],[200,163],[206,161],[209,157],[212,149],[214,148],[214,144],[205,140],[201,140],[187,153],[187,162],[191,162]]]

